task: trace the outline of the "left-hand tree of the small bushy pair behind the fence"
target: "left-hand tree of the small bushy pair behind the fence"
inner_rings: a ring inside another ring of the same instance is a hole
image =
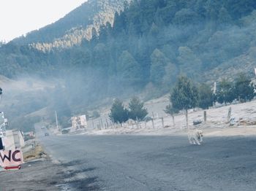
[[[113,120],[113,122],[126,122],[128,118],[128,110],[124,108],[123,102],[115,99],[113,105],[110,109],[109,114],[110,120]]]

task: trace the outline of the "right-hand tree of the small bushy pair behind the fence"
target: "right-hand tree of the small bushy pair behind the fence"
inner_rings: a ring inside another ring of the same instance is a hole
[[[143,102],[140,98],[134,96],[129,102],[129,118],[132,120],[143,120],[148,114],[147,109],[144,108]]]

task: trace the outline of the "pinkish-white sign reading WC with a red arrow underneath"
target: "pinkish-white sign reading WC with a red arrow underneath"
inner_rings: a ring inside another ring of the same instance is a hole
[[[23,155],[21,150],[1,150],[0,166],[5,170],[20,169],[23,164]]]

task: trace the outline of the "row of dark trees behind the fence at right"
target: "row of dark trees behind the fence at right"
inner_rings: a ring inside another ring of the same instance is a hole
[[[246,74],[239,74],[235,81],[222,79],[214,91],[209,85],[195,85],[188,77],[178,78],[172,93],[170,93],[170,104],[166,106],[165,112],[173,117],[179,111],[184,110],[188,127],[188,109],[200,107],[208,109],[214,103],[219,104],[251,101],[255,97],[255,88],[252,80]]]

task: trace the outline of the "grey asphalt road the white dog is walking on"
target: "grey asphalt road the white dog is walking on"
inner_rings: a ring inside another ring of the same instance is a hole
[[[206,138],[201,146],[182,136],[39,139],[76,172],[72,190],[256,190],[256,137]]]

